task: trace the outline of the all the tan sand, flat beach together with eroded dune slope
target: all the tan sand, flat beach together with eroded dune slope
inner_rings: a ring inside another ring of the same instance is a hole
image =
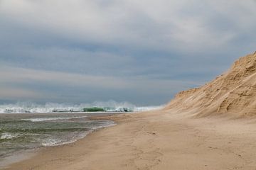
[[[181,91],[162,110],[97,117],[117,125],[7,169],[255,170],[255,68],[256,52],[208,84]]]

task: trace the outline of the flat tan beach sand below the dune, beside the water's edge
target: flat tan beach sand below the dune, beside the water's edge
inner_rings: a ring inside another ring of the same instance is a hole
[[[255,119],[191,118],[172,111],[109,118],[118,124],[43,148],[7,169],[256,169]]]

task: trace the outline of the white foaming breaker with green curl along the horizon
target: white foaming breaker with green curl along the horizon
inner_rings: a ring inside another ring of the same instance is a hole
[[[46,103],[41,105],[33,102],[17,102],[0,105],[0,113],[82,113],[87,112],[85,108],[102,108],[102,112],[141,112],[156,110],[162,108],[162,106],[135,106],[132,103],[118,103],[116,101],[81,103],[79,105],[70,103]],[[88,112],[90,112],[90,109]]]

